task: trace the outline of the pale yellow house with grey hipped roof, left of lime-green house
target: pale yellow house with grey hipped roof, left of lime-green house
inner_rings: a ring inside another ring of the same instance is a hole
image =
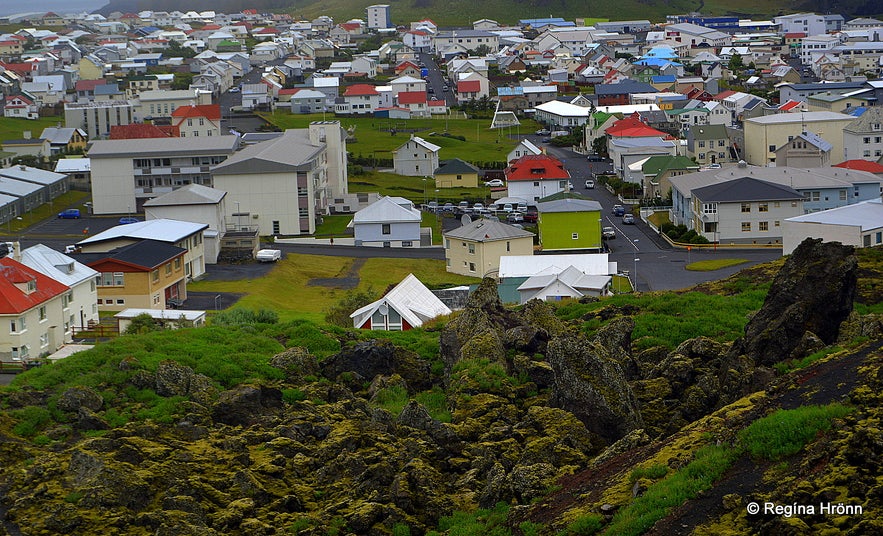
[[[533,255],[534,234],[495,220],[475,220],[444,233],[446,270],[484,277],[500,270],[500,257]]]

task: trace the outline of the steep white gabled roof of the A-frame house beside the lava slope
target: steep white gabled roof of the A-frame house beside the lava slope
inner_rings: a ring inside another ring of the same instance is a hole
[[[385,296],[354,311],[350,315],[353,326],[364,325],[365,321],[384,305],[399,313],[411,327],[419,327],[427,320],[451,314],[448,306],[414,277],[414,274],[408,274]]]

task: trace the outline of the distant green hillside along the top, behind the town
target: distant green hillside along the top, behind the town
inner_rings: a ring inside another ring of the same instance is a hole
[[[287,12],[298,18],[330,15],[335,20],[365,18],[365,7],[374,0],[112,0],[100,10],[137,12],[152,10],[215,10],[235,13],[243,9]],[[665,15],[701,11],[709,15],[736,14],[744,17],[769,17],[800,10],[819,13],[843,13],[844,16],[879,14],[883,7],[878,0],[622,0],[616,3],[598,0],[389,0],[392,20],[396,24],[429,17],[442,26],[468,25],[474,20],[490,18],[513,23],[521,18],[550,15],[573,19],[602,17],[611,20],[650,19],[662,21]]]

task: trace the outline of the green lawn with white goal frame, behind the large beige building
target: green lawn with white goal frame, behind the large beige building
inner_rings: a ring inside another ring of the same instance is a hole
[[[307,128],[312,121],[321,121],[322,114],[295,115],[276,111],[272,114],[259,114],[270,123],[282,129]],[[414,118],[375,119],[373,117],[341,117],[341,126],[349,129],[355,127],[355,140],[347,142],[347,150],[355,156],[366,158],[392,158],[392,151],[404,144],[410,133],[402,130],[417,129],[414,134],[426,141],[441,146],[439,158],[460,158],[467,162],[505,162],[506,156],[516,141],[506,137],[508,134],[530,133],[539,128],[532,120],[524,121],[518,129],[490,130],[490,119],[445,119],[435,116],[430,119]],[[399,132],[391,135],[388,129],[396,128]],[[466,141],[438,136],[447,131],[455,136],[464,136]]]

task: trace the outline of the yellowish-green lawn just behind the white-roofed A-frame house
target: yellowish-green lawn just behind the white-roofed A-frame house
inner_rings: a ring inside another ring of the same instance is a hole
[[[235,307],[272,309],[282,321],[306,319],[323,323],[325,311],[339,301],[345,289],[311,286],[314,278],[344,277],[355,259],[322,255],[289,254],[264,277],[238,281],[197,281],[193,292],[245,293]],[[367,259],[359,271],[359,288],[369,286],[378,294],[413,273],[430,288],[477,283],[479,280],[445,271],[444,261],[435,259]]]

